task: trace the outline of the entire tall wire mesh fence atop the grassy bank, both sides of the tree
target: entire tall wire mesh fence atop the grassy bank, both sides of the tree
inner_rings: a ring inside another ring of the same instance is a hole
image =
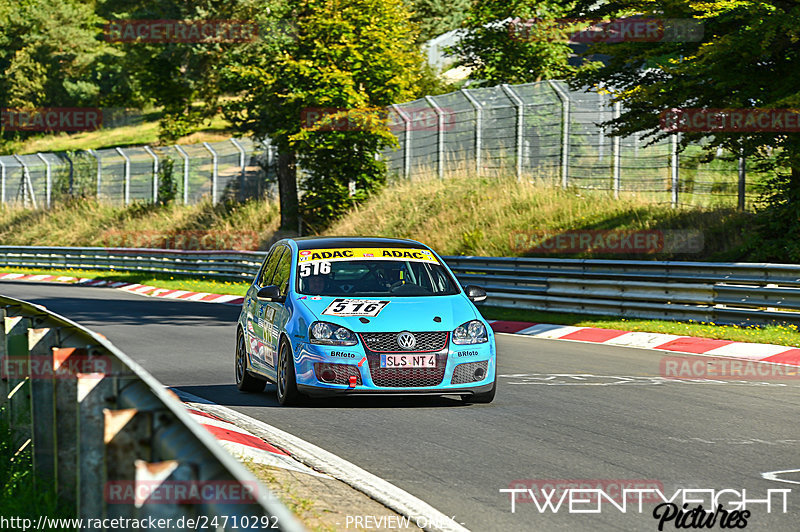
[[[752,161],[721,150],[709,154],[702,143],[679,152],[678,133],[654,144],[638,134],[612,137],[599,124],[618,117],[620,105],[560,81],[462,89],[388,111],[399,145],[382,156],[393,176],[406,179],[504,174],[648,202],[744,209],[764,177]],[[46,207],[67,192],[126,205],[158,201],[167,158],[184,204],[276,194],[275,147],[243,138],[0,156],[0,203]]]

